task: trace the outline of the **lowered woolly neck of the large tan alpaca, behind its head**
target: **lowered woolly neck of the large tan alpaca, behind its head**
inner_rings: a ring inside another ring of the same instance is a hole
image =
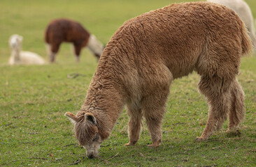
[[[97,79],[95,79],[97,78]],[[124,95],[121,88],[110,81],[94,75],[87,91],[82,110],[92,113],[102,138],[108,138],[124,107]]]

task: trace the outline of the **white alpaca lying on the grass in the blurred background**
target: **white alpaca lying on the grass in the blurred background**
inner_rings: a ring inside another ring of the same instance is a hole
[[[9,45],[12,53],[9,65],[43,65],[45,61],[41,56],[31,51],[22,50],[22,36],[14,34],[10,36]]]

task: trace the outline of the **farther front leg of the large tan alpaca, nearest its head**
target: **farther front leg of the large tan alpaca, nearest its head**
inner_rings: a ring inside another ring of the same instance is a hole
[[[134,108],[127,105],[127,114],[130,117],[128,122],[129,143],[125,145],[129,146],[135,145],[140,138],[142,125],[142,110],[138,107]]]

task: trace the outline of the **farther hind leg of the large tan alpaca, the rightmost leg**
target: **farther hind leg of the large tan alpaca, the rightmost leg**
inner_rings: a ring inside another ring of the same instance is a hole
[[[243,120],[246,109],[244,102],[244,93],[237,79],[232,83],[232,106],[229,110],[229,131],[235,130]]]

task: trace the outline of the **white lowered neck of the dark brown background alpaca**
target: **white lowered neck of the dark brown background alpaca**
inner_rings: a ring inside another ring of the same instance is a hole
[[[104,50],[104,46],[97,40],[94,35],[90,35],[87,47],[90,49],[90,51],[92,51],[93,54],[97,55],[97,57],[101,56]]]

